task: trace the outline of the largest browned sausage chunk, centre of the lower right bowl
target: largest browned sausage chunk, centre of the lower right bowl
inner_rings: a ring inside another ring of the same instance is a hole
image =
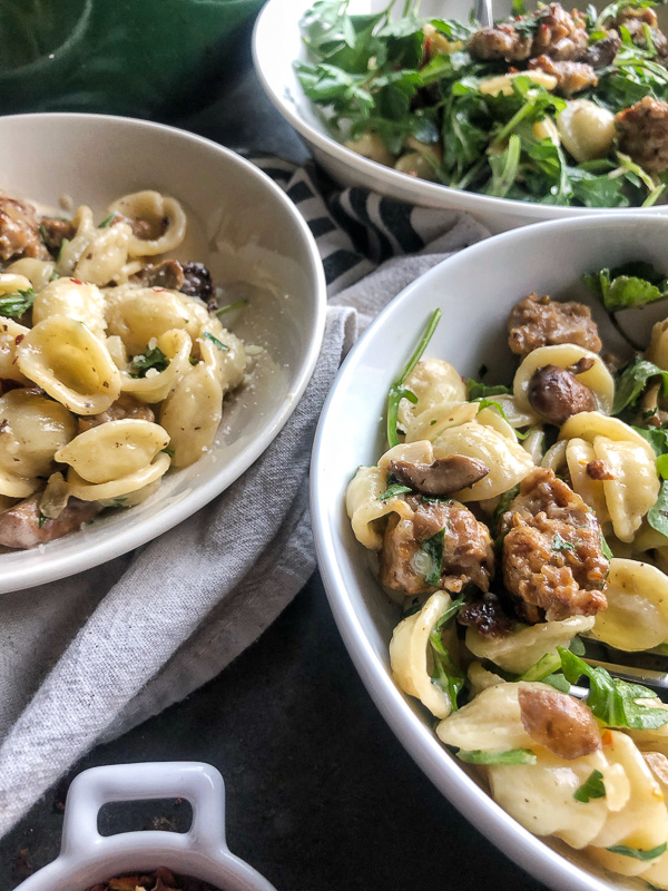
[[[501,518],[503,580],[530,624],[595,616],[608,606],[601,528],[579,495],[536,468]]]

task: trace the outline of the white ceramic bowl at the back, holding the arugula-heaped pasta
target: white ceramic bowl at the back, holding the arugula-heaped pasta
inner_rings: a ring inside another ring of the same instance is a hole
[[[600,209],[553,207],[508,198],[491,198],[438,183],[428,183],[363,158],[336,141],[330,136],[322,117],[304,96],[293,70],[295,59],[306,58],[298,22],[311,6],[312,0],[268,0],[255,25],[253,56],[267,96],[304,138],[316,160],[337,183],[344,186],[365,186],[382,195],[423,207],[468,210],[491,232],[503,232],[514,226],[546,219],[600,214]],[[386,0],[350,0],[348,9],[353,13],[369,13],[379,12],[386,6]],[[396,14],[401,6],[401,3],[395,4]],[[470,0],[448,0],[445,4],[443,0],[421,0],[420,14],[466,21],[471,7]],[[510,3],[505,0],[494,4],[494,16],[499,18],[509,14],[509,11]],[[656,216],[668,213],[668,207],[621,210],[628,214],[639,212],[642,215]]]

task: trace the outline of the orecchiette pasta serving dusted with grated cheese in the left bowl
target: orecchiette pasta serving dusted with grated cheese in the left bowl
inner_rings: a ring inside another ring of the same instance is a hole
[[[13,548],[138,505],[199,460],[246,372],[208,271],[160,256],[186,233],[176,199],[127,195],[99,225],[86,206],[71,221],[24,209],[41,254],[0,266],[0,546]]]

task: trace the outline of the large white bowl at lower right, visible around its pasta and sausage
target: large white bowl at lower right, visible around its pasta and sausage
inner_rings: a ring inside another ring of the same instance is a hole
[[[574,851],[547,844],[515,823],[440,744],[426,709],[394,685],[387,646],[399,607],[377,582],[370,551],[353,536],[344,496],[356,468],[375,464],[384,451],[381,419],[387,390],[436,306],[443,317],[425,355],[446,359],[463,375],[477,375],[484,363],[487,381],[509,381],[513,363],[505,321],[518,300],[532,291],[587,300],[587,288],[579,282],[583,273],[629,260],[654,262],[666,273],[667,243],[668,219],[610,214],[515,229],[444,261],[392,301],[355,345],[327,398],[313,449],[311,495],[318,564],[334,617],[369,692],[443,794],[510,858],[561,891],[631,885],[595,874]],[[668,307],[657,305],[654,312],[659,314],[652,313],[654,317],[661,317]],[[652,314],[642,319],[644,336]],[[595,316],[606,347],[618,351],[620,341],[599,307]]]

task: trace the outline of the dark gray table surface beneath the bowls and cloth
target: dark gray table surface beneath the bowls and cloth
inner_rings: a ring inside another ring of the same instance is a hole
[[[306,157],[247,52],[213,106],[173,123],[233,148]],[[0,841],[0,891],[58,854],[63,796],[79,771],[178,760],[220,770],[230,850],[278,891],[542,889],[460,816],[399,744],[355,673],[317,574],[218,677],[96,747],[48,792]],[[105,825],[185,820],[183,804],[145,803],[114,809]]]

